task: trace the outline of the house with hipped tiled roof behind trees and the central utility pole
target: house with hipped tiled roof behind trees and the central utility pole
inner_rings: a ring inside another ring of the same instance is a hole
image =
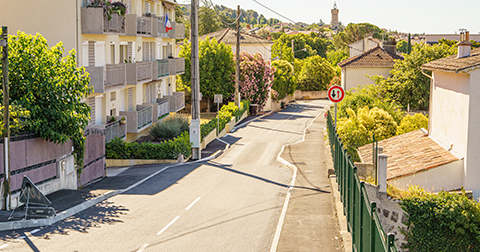
[[[217,41],[224,42],[232,47],[232,52],[235,54],[237,48],[237,33],[235,30],[226,28],[220,31],[205,34],[199,38],[204,40],[205,38],[216,38]],[[259,37],[255,34],[249,34],[240,32],[240,50],[248,52],[250,54],[260,53],[265,60],[271,60],[272,58],[272,45],[273,42]]]

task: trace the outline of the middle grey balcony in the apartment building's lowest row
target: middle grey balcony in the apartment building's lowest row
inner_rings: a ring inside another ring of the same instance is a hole
[[[120,117],[127,119],[127,133],[138,133],[152,124],[152,107],[137,105],[136,111],[120,111]]]

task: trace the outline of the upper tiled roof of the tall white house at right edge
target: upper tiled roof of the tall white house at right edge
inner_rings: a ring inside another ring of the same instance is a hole
[[[421,69],[429,71],[460,72],[467,71],[472,67],[480,66],[480,48],[471,51],[469,57],[457,59],[457,55],[441,58],[432,62],[423,64]]]

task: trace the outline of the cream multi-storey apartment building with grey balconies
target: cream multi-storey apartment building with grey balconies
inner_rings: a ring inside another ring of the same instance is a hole
[[[75,49],[77,64],[90,74],[94,88],[84,101],[92,108],[89,127],[104,129],[106,141],[138,133],[184,107],[184,94],[175,92],[176,75],[185,71],[184,59],[174,58],[175,39],[185,37],[184,24],[175,22],[177,4],[120,2],[125,15],[104,13],[92,0],[9,1],[0,9],[10,34],[40,33],[50,46],[62,41],[65,52]],[[115,122],[108,124],[111,117]]]

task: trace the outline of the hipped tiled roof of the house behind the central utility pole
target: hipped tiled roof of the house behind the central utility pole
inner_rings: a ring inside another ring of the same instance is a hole
[[[218,42],[224,42],[227,45],[235,45],[237,43],[237,33],[230,28],[205,34],[199,39],[204,40],[206,37],[216,38]],[[240,44],[273,44],[273,42],[254,34],[240,32]]]

